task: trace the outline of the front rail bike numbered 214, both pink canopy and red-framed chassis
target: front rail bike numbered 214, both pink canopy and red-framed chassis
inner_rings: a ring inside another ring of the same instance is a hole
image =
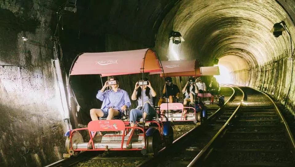
[[[83,53],[74,60],[70,76],[88,74],[114,76],[144,72],[163,72],[161,62],[152,49]],[[65,134],[68,137],[65,143],[66,150],[69,155],[80,151],[105,150],[141,150],[143,154],[154,154],[160,147],[173,142],[171,122],[167,121],[164,124],[159,120],[146,122],[150,123],[150,126],[144,126],[142,123],[142,126],[130,127],[128,121],[114,119],[90,121],[87,128],[70,129]],[[135,129],[138,132],[126,136],[132,129],[133,132]],[[82,137],[79,131],[83,130],[89,134],[90,139]],[[108,133],[100,136],[96,135],[98,131]],[[85,140],[89,141],[84,142]]]

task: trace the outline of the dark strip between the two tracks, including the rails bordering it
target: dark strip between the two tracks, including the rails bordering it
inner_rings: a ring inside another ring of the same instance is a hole
[[[218,130],[224,124],[230,115],[233,114],[234,110],[238,107],[237,104],[241,103],[242,96],[239,95],[235,89],[235,99],[228,102],[225,107],[219,110],[208,111],[207,123],[195,129],[193,135],[190,138],[187,138],[180,147],[175,147],[170,149],[169,153],[166,153],[165,157],[158,157],[151,160],[151,162],[144,162],[138,166],[149,166],[152,163],[154,166],[169,166],[169,167],[178,167],[178,166],[187,166],[191,160],[202,150],[204,146],[210,141],[211,138],[218,132]],[[241,93],[240,93],[241,94]],[[229,96],[228,96],[229,97]],[[240,103],[237,103],[240,102]],[[233,104],[232,104],[233,103]],[[237,103],[237,104],[236,104]]]

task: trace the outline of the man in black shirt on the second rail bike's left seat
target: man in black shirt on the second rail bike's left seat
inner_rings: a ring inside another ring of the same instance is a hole
[[[165,78],[165,81],[166,83],[163,86],[163,90],[162,90],[164,97],[159,99],[158,106],[166,102],[173,103],[173,96],[176,97],[177,99],[179,98],[179,93],[180,93],[179,88],[177,85],[172,83],[171,77]]]

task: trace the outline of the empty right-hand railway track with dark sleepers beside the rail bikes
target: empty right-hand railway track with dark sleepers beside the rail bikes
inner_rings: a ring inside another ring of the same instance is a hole
[[[264,93],[242,87],[247,100],[188,165],[295,166],[295,142],[285,119]]]

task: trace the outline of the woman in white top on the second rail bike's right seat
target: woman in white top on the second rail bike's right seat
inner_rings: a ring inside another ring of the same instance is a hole
[[[187,84],[185,84],[183,87],[182,92],[185,95],[185,98],[183,99],[183,105],[186,105],[187,103],[194,104],[194,95],[198,94],[198,87],[196,86],[193,78],[190,78],[187,81]],[[184,111],[184,113],[186,113],[186,110]]]

